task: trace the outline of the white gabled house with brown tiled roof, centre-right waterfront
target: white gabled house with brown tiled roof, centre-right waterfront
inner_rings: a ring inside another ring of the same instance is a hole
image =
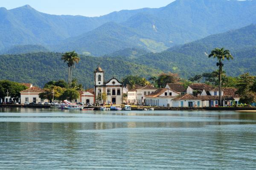
[[[172,99],[179,95],[180,92],[168,88],[160,88],[157,91],[144,96],[144,104],[148,106],[172,107]]]

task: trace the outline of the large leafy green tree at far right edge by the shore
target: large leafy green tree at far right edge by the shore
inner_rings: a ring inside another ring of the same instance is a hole
[[[255,77],[249,73],[239,76],[236,94],[239,94],[241,103],[251,104],[256,102],[256,92],[254,91]]]

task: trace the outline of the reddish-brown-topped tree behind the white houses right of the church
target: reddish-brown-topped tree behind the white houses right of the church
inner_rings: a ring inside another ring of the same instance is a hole
[[[178,74],[174,73],[162,73],[157,77],[157,85],[159,88],[163,88],[167,83],[176,83],[180,81],[180,77]]]

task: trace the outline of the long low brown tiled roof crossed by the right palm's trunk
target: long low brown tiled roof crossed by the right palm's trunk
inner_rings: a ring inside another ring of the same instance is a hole
[[[193,96],[191,94],[185,94],[173,100],[219,100],[219,96]],[[222,96],[222,100],[234,100],[234,98],[232,96]]]

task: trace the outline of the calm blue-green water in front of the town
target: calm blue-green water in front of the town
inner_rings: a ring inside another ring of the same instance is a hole
[[[253,170],[256,112],[0,108],[2,170]]]

